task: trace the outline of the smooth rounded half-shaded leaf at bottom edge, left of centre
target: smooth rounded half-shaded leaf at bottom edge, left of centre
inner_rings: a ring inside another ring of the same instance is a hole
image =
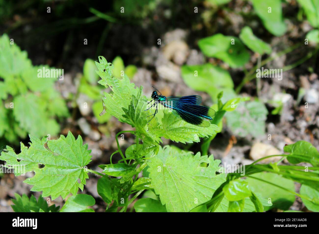
[[[93,196],[87,194],[77,194],[69,197],[60,212],[94,212],[88,206],[93,206],[95,200]]]

